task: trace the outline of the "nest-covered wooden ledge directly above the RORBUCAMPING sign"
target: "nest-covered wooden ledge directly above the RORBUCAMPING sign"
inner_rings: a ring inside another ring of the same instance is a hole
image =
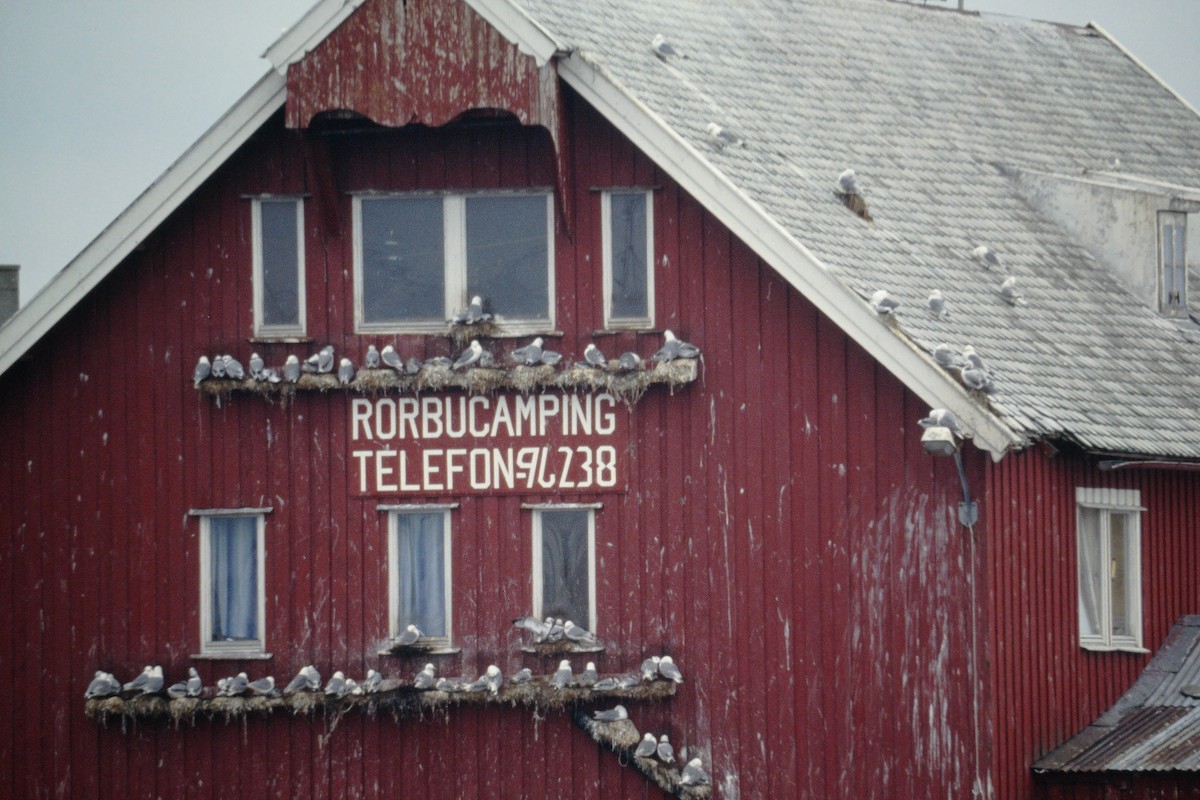
[[[626,403],[636,403],[652,386],[677,387],[695,383],[698,361],[678,359],[649,369],[618,372],[593,367],[556,369],[535,367],[472,367],[456,372],[449,367],[421,367],[415,375],[402,375],[395,369],[360,369],[349,384],[341,384],[332,373],[302,373],[296,383],[277,384],[246,378],[208,378],[197,387],[202,395],[215,399],[234,393],[259,395],[266,398],[290,398],[300,392],[350,392],[358,395],[418,393],[462,390],[473,395],[512,390],[522,393],[564,389],[575,391],[606,391]]]

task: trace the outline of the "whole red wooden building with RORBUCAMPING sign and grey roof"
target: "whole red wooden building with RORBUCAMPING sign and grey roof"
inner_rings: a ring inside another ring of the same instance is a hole
[[[0,794],[660,796],[572,721],[628,697],[715,796],[1069,795],[1033,763],[1200,600],[1200,119],[1092,28],[610,5],[318,4],[0,327]],[[496,366],[431,362],[473,338]],[[685,681],[84,702],[144,664],[541,686],[524,614]]]

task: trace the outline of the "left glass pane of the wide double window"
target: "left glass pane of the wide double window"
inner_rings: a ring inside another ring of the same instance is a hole
[[[442,198],[364,198],[365,323],[445,319]]]

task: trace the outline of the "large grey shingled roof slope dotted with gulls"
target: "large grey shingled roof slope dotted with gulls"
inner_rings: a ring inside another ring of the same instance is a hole
[[[901,337],[973,344],[995,373],[991,410],[1012,431],[1200,457],[1188,332],[1141,306],[1007,175],[1078,175],[1120,158],[1142,178],[1200,186],[1200,116],[1094,29],[881,0],[512,1],[818,266],[860,297],[898,297]],[[686,58],[656,58],[656,32]],[[714,121],[745,146],[709,144]],[[874,225],[833,193],[846,167]],[[979,243],[1004,269],[984,272],[970,258]],[[1000,297],[1007,273],[1027,305]],[[925,311],[935,288],[947,319]]]

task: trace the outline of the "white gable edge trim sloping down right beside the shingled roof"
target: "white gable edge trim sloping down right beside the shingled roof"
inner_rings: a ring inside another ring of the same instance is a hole
[[[618,86],[606,71],[578,53],[559,62],[559,76],[583,100],[661,166],[686,192],[740,237],[788,283],[908,389],[931,407],[949,408],[974,443],[1000,461],[1028,444],[994,414],[982,409],[929,356],[892,331],[866,303],[839,281],[761,205],[701,156],[695,148],[640,100]],[[809,269],[803,269],[808,266]],[[886,333],[881,336],[881,333]]]

